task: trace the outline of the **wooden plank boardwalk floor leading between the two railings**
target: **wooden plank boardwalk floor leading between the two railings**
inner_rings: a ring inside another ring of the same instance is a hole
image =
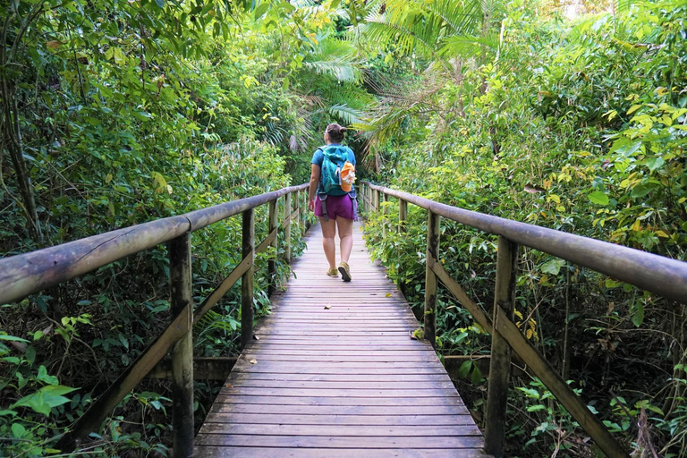
[[[352,282],[321,231],[293,265],[196,437],[197,457],[473,457],[483,438],[403,295],[354,230]],[[338,251],[338,246],[337,246]]]

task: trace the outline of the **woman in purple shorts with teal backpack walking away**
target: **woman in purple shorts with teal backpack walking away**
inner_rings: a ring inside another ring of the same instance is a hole
[[[355,155],[351,148],[342,146],[346,128],[337,123],[327,125],[325,146],[312,155],[308,208],[315,212],[322,225],[322,246],[329,263],[328,276],[351,281],[348,260],[353,246],[353,221],[356,219],[357,202],[352,180],[346,179],[346,171],[354,169]],[[336,270],[336,230],[339,231],[341,262]]]

